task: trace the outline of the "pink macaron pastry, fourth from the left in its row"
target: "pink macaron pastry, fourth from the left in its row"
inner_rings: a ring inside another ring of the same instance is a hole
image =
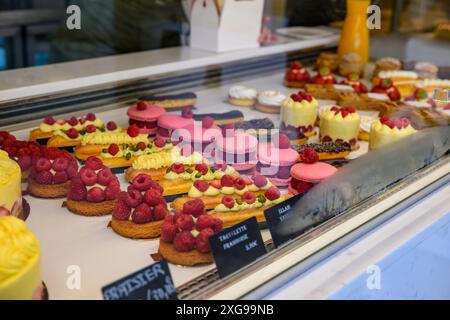
[[[252,174],[258,162],[257,149],[258,139],[252,135],[227,135],[217,141],[216,162],[230,164],[241,174]]]

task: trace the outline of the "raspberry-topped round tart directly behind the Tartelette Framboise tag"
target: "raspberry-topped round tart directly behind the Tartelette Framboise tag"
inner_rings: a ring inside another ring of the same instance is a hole
[[[222,229],[222,221],[208,215],[200,199],[188,201],[182,210],[165,218],[158,253],[181,266],[213,263],[208,239]]]

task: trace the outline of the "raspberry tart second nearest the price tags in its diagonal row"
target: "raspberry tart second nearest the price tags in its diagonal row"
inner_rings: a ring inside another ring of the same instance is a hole
[[[120,192],[114,206],[111,228],[131,239],[153,239],[169,214],[163,188],[147,175],[137,176],[127,191]]]

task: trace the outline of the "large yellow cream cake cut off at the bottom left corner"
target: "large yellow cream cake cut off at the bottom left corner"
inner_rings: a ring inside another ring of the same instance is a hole
[[[41,299],[40,245],[25,223],[0,217],[0,300]]]

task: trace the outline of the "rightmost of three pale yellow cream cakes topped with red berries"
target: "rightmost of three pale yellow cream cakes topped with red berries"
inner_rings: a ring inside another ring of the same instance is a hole
[[[378,149],[416,133],[408,118],[388,118],[383,116],[370,128],[369,149]]]

